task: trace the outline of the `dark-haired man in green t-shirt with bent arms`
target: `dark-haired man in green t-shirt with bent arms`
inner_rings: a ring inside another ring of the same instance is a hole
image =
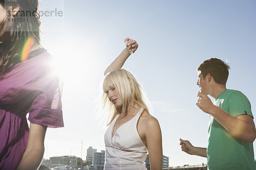
[[[208,170],[256,170],[256,129],[250,102],[240,91],[226,88],[229,66],[211,58],[199,65],[196,105],[210,115],[208,146],[194,147],[180,139],[182,151],[207,157]],[[214,98],[214,104],[207,95]]]

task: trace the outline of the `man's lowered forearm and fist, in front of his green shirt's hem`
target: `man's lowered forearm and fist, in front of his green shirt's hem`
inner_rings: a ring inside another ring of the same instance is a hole
[[[181,150],[190,154],[207,158],[207,148],[194,147],[189,141],[180,139]]]

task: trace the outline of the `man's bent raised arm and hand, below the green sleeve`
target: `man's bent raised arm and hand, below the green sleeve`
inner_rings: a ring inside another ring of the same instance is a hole
[[[199,92],[198,97],[196,105],[205,113],[212,115],[232,136],[250,143],[255,140],[256,129],[252,116],[244,114],[234,117],[213,105],[207,95]]]

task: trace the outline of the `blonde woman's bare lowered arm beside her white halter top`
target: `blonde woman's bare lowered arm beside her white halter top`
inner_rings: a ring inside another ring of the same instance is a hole
[[[160,125],[154,117],[147,121],[145,139],[148,147],[148,156],[151,170],[162,170],[163,148]]]

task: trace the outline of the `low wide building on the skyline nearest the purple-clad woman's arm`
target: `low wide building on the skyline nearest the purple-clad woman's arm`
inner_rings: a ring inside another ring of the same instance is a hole
[[[64,165],[76,165],[76,156],[52,156],[50,157],[50,164],[64,164]]]

